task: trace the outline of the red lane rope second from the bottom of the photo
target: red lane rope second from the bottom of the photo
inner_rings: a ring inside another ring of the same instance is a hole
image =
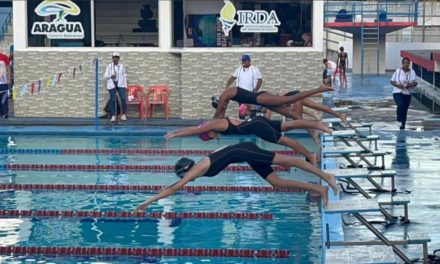
[[[0,218],[93,218],[93,219],[240,219],[272,220],[271,213],[223,212],[130,212],[130,211],[58,211],[58,210],[0,210]]]

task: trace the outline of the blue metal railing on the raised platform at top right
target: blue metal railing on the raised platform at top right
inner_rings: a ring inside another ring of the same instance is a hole
[[[343,11],[345,10],[345,12]],[[353,2],[340,1],[330,2],[327,0],[324,6],[324,21],[325,23],[334,22],[334,19],[345,15],[344,22],[374,22],[378,17],[378,10],[380,12],[379,19],[386,17],[386,19],[393,22],[415,22],[417,23],[419,13],[418,1],[401,1],[401,2]],[[382,16],[381,16],[382,15]],[[362,20],[360,20],[362,18]],[[351,20],[351,21],[350,21]]]

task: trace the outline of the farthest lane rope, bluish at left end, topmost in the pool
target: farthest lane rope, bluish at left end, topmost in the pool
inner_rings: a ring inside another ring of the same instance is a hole
[[[59,155],[84,155],[84,154],[126,154],[126,155],[166,155],[166,156],[207,156],[213,150],[204,149],[18,149],[0,148],[0,154],[59,154]],[[276,150],[278,154],[297,155],[294,150]]]

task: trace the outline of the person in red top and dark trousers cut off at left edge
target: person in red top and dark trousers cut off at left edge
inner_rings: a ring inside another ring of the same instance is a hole
[[[11,67],[9,57],[0,53],[0,117],[8,118],[9,88],[11,87]]]

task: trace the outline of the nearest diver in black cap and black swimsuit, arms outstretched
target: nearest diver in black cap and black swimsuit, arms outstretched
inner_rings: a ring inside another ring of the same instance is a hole
[[[175,194],[183,189],[186,184],[199,177],[216,176],[229,164],[241,162],[248,163],[249,166],[260,175],[260,177],[269,182],[275,188],[302,189],[318,193],[323,199],[324,206],[327,206],[328,203],[327,186],[283,179],[275,173],[272,165],[279,165],[287,168],[296,167],[313,173],[327,182],[335,194],[338,193],[338,185],[336,184],[334,174],[326,173],[304,160],[261,149],[252,142],[243,142],[220,148],[208,155],[208,157],[199,161],[197,164],[194,160],[188,158],[179,159],[174,171],[180,180],[165,187],[159,194],[139,204],[136,207],[135,212],[145,211],[153,202]]]

